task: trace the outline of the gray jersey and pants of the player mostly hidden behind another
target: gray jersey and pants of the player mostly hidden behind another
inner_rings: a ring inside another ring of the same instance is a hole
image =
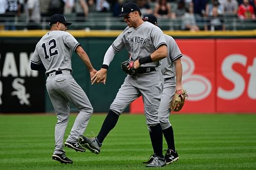
[[[164,58],[160,65],[164,77],[163,93],[159,105],[160,125],[162,129],[169,128],[169,103],[176,90],[176,72],[174,61],[182,57],[181,51],[173,37],[164,35],[167,42],[168,56]]]

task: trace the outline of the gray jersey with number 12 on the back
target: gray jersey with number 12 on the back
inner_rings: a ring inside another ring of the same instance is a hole
[[[71,70],[72,50],[79,42],[68,32],[50,31],[36,44],[31,62],[42,63],[46,74],[57,70]]]

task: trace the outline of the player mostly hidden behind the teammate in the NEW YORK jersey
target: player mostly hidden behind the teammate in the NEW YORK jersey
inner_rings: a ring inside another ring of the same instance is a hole
[[[142,19],[144,21],[151,22],[157,26],[157,18],[154,15],[146,15]],[[179,159],[178,153],[175,149],[173,127],[169,122],[169,103],[170,101],[172,101],[175,90],[178,91],[180,89],[183,89],[181,83],[182,64],[180,59],[182,57],[182,54],[173,37],[166,34],[164,34],[164,37],[167,42],[168,56],[161,60],[162,63],[160,65],[161,72],[164,77],[164,85],[161,102],[159,105],[159,118],[163,135],[165,137],[168,147],[168,149],[165,150],[165,160],[166,163],[169,164]],[[151,157],[147,162],[143,163],[148,163],[152,160],[153,157]]]

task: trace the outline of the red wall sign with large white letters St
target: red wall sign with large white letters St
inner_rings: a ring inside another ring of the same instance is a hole
[[[217,112],[256,112],[256,39],[217,40]]]

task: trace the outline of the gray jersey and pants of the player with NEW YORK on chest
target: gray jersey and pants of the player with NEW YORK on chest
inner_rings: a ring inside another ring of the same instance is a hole
[[[137,60],[151,55],[163,44],[166,45],[163,32],[151,23],[144,22],[136,29],[133,27],[124,29],[112,43],[112,47],[118,52],[126,47],[131,53],[131,58]],[[127,105],[142,95],[147,125],[160,123],[158,108],[163,89],[163,77],[159,65],[159,61],[142,64],[138,71],[145,69],[145,73],[139,73],[136,76],[127,75],[110,110],[120,115]],[[153,71],[152,68],[154,68]]]

